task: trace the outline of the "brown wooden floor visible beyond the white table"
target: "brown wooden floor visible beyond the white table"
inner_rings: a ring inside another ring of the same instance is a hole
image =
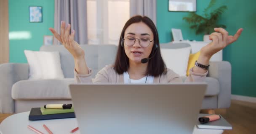
[[[230,108],[215,112],[233,126],[233,130],[225,130],[223,134],[256,134],[256,103],[232,100]],[[10,115],[0,114],[0,123]]]

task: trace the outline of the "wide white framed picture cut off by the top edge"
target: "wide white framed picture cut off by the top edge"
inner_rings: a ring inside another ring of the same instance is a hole
[[[197,0],[169,0],[168,10],[171,12],[196,12]]]

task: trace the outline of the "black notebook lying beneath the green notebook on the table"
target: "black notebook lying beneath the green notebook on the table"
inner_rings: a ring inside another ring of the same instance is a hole
[[[29,121],[47,120],[47,119],[62,119],[62,118],[75,118],[75,113],[57,113],[43,115],[40,108],[31,108],[29,113]]]

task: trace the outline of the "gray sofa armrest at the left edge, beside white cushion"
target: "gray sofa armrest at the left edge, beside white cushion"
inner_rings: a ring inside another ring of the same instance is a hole
[[[29,65],[25,63],[0,64],[0,76],[0,113],[13,113],[11,88],[14,83],[28,79]]]

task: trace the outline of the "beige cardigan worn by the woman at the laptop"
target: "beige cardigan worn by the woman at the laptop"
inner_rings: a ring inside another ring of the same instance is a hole
[[[192,71],[193,68],[189,70],[189,76],[185,82],[205,82],[205,77],[208,73],[204,74],[196,73]],[[75,82],[78,83],[124,83],[123,74],[119,75],[114,70],[113,65],[107,65],[103,67],[95,76],[94,79],[91,78],[92,70],[89,68],[89,74],[80,75],[77,74],[74,69]],[[182,82],[181,77],[173,72],[173,70],[167,69],[166,74],[162,74],[158,77],[154,77],[153,83],[170,83],[170,82]]]

